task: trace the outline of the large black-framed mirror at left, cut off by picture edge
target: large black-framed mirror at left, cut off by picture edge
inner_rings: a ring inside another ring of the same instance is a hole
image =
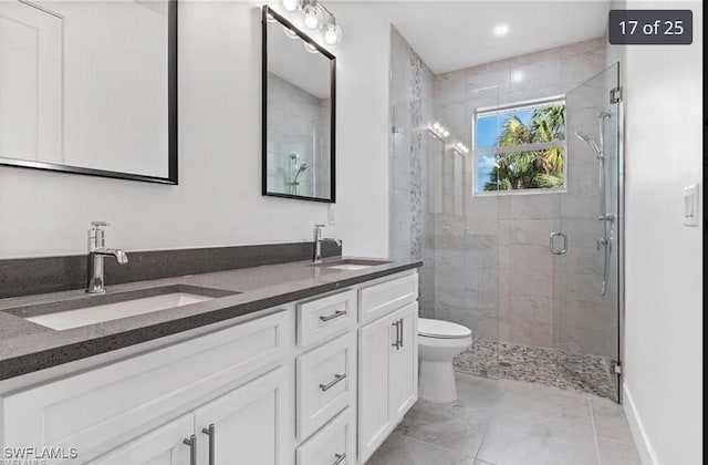
[[[0,2],[0,165],[177,184],[177,0]]]

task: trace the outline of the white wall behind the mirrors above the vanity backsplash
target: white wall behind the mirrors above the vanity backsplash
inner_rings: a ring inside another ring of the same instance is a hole
[[[325,236],[384,257],[389,29],[335,7],[347,37],[335,51],[337,224]],[[260,28],[258,4],[183,0],[179,186],[0,166],[0,258],[83,254],[93,219],[126,250],[310,240],[327,205],[260,195]]]

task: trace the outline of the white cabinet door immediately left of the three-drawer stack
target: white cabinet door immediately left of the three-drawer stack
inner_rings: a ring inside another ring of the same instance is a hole
[[[195,411],[199,464],[291,465],[287,425],[294,423],[292,380],[273,370]],[[211,435],[204,432],[212,426]],[[209,441],[214,442],[210,451]],[[209,462],[209,455],[212,462]]]

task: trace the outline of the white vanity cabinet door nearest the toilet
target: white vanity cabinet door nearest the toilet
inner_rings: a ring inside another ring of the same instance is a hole
[[[418,303],[395,312],[395,322],[400,343],[391,347],[389,383],[392,416],[397,422],[418,400]]]

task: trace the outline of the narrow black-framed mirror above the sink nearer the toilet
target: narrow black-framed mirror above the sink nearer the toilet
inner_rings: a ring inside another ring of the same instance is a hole
[[[336,58],[262,8],[262,194],[334,203]]]

